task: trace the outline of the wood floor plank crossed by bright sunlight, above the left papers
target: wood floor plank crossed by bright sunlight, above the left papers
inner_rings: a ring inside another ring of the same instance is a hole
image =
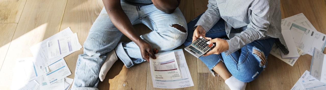
[[[0,88],[10,89],[16,58],[33,57],[29,47],[59,32],[66,3],[67,0],[26,2],[0,71]]]

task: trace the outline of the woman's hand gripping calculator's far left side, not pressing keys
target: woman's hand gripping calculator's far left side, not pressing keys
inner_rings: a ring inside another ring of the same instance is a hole
[[[193,36],[192,36],[192,42],[194,42],[196,39],[198,39],[200,37],[204,37],[207,40],[212,40],[212,38],[205,37],[205,34],[206,34],[206,32],[205,32],[204,28],[202,28],[200,25],[198,25],[194,31]]]

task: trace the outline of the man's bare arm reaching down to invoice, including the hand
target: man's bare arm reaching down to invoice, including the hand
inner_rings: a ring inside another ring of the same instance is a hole
[[[113,25],[139,46],[142,58],[148,61],[149,55],[151,55],[152,58],[156,59],[152,51],[152,46],[142,40],[133,28],[129,18],[121,7],[120,0],[102,1]]]

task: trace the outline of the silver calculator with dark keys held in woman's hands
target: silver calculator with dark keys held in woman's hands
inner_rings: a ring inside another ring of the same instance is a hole
[[[207,42],[208,40],[204,38],[198,38],[190,45],[186,46],[185,50],[190,54],[194,55],[195,57],[199,58],[200,56],[207,53],[214,46],[214,44],[206,44]]]

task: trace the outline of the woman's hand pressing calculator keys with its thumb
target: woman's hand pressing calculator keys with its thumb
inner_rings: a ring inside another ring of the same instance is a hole
[[[215,46],[211,49],[211,51],[207,52],[203,56],[208,56],[211,54],[220,54],[226,50],[229,50],[229,44],[226,40],[220,39],[220,38],[215,38],[207,42],[207,44],[212,44],[216,43]]]

